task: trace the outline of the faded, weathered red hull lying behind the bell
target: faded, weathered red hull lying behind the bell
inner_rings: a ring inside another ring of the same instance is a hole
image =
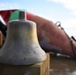
[[[76,56],[76,42],[69,38],[66,33],[58,28],[52,21],[28,12],[26,12],[26,17],[28,20],[36,22],[38,40],[40,46],[45,51]],[[9,20],[9,17],[7,19]],[[7,21],[6,19],[4,20],[5,22]],[[7,23],[8,21],[6,24]]]

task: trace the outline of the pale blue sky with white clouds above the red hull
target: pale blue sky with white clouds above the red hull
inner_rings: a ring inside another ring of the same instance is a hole
[[[25,9],[54,23],[60,21],[69,37],[76,38],[76,0],[0,0],[0,10],[8,9]]]

